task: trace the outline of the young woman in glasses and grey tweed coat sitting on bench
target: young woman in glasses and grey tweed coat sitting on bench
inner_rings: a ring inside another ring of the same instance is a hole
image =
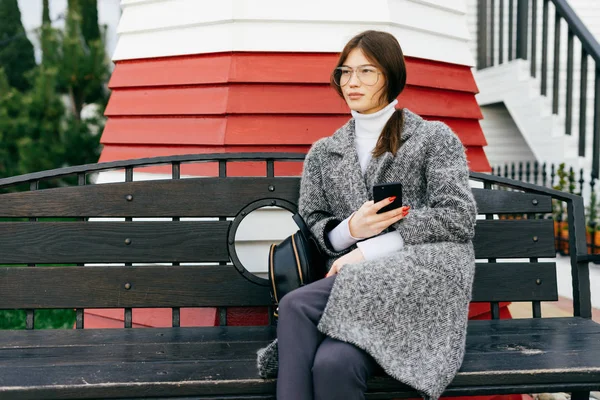
[[[282,299],[259,371],[284,400],[363,399],[378,368],[436,399],[462,363],[475,271],[465,150],[395,108],[406,67],[392,35],[351,39],[331,81],[353,118],[313,144],[299,200],[330,269]],[[374,203],[372,187],[391,182],[404,207],[378,214],[394,199]]]

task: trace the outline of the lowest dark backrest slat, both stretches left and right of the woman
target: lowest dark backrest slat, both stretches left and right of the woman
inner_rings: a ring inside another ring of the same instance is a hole
[[[0,309],[265,306],[271,301],[268,288],[251,283],[231,265],[0,267],[0,293]],[[557,299],[554,263],[477,264],[473,301]]]

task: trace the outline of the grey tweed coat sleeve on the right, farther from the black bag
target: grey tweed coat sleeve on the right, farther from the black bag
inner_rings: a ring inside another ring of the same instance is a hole
[[[465,148],[447,125],[438,124],[425,155],[426,206],[394,224],[409,245],[467,242],[475,235],[477,205]]]

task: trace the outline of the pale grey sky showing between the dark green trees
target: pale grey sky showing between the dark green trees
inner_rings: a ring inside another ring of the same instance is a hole
[[[38,38],[35,29],[42,23],[42,0],[18,0],[21,10],[21,21],[27,31],[27,36],[36,47],[36,58],[40,59]],[[50,0],[50,19],[56,27],[64,26],[64,20],[60,19],[67,11],[67,0]],[[117,25],[121,16],[120,0],[98,0],[98,22],[107,25],[106,51],[111,58],[117,45]],[[112,65],[111,65],[112,67]]]

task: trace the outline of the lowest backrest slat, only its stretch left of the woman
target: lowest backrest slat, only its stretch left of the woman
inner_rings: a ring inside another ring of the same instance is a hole
[[[265,306],[271,302],[268,288],[251,283],[231,265],[0,267],[0,293],[0,309]]]

